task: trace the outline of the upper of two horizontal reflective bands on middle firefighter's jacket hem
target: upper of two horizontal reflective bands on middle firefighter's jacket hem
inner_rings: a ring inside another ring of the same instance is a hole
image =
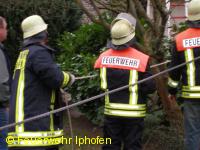
[[[123,109],[123,110],[145,110],[146,109],[145,104],[130,105],[130,104],[109,103],[109,104],[106,104],[105,107],[112,108],[112,109]]]

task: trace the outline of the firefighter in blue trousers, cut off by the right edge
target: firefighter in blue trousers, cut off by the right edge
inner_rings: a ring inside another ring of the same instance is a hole
[[[171,67],[193,60],[200,56],[200,2],[188,3],[189,28],[175,37],[172,49]],[[181,83],[181,84],[179,84]],[[186,150],[200,148],[200,61],[193,61],[186,66],[169,73],[169,98],[175,100],[177,87],[181,87],[183,100],[184,146]]]

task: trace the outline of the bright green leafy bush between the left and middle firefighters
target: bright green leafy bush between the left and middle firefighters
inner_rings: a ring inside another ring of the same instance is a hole
[[[58,62],[62,69],[72,72],[75,76],[98,74],[93,65],[108,36],[109,32],[97,24],[82,25],[73,33],[65,32],[58,40],[58,45],[62,49]],[[74,102],[100,94],[99,77],[76,81],[70,88],[70,93]],[[101,124],[103,102],[95,100],[79,108],[93,123]]]

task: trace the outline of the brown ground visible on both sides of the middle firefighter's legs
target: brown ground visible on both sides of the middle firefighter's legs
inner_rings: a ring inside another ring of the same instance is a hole
[[[72,144],[67,141],[60,150],[101,150],[102,145],[100,144],[89,144],[88,140],[84,143],[85,138],[97,138],[103,137],[102,128],[93,125],[83,114],[73,109],[70,111],[73,134],[74,134],[74,149]],[[65,112],[65,118],[67,112]],[[149,117],[147,117],[149,118]],[[147,120],[146,120],[147,122]],[[65,122],[65,133],[67,133],[67,139],[71,138],[69,121],[66,119]],[[147,131],[149,130],[149,131]],[[144,137],[143,150],[182,150],[183,149],[183,137],[177,134],[177,131],[166,126],[154,126],[146,127]],[[77,140],[80,140],[79,142]],[[81,142],[83,142],[81,144]]]

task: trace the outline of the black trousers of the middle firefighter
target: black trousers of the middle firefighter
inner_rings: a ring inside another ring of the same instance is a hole
[[[111,138],[111,144],[103,150],[141,150],[144,118],[104,117],[104,138]]]

